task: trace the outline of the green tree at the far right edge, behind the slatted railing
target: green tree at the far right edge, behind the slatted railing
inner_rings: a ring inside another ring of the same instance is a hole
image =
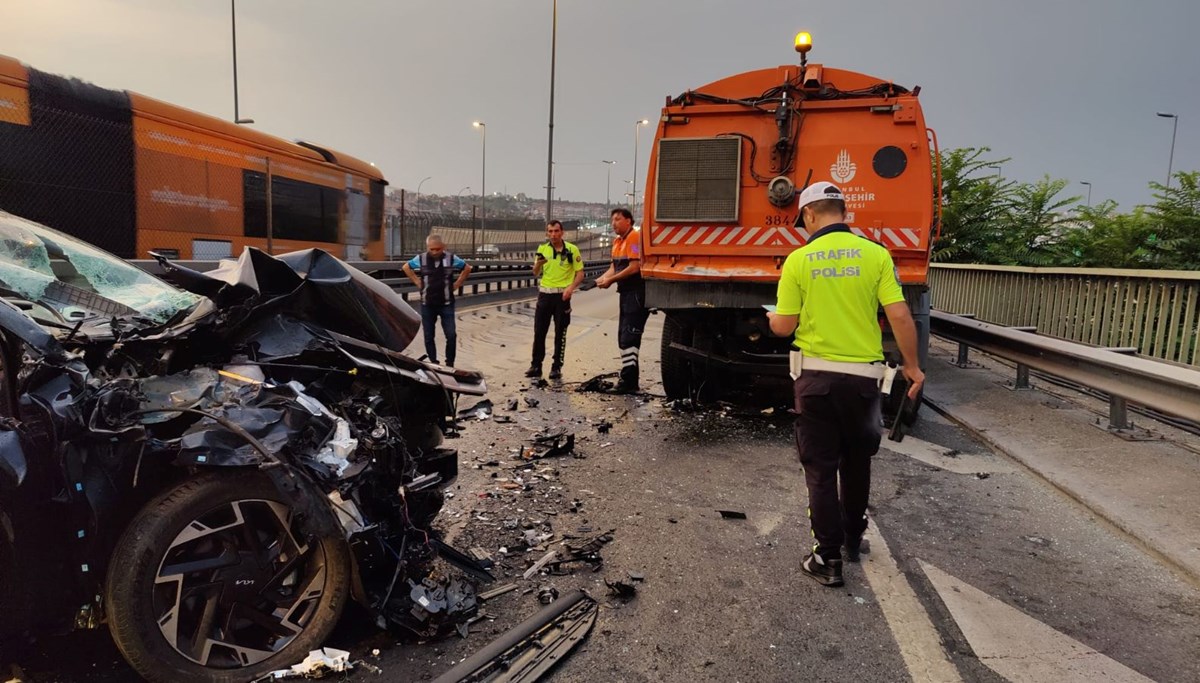
[[[1175,174],[1177,182],[1165,187],[1151,182],[1157,202],[1150,215],[1157,224],[1159,268],[1200,270],[1200,172]]]

